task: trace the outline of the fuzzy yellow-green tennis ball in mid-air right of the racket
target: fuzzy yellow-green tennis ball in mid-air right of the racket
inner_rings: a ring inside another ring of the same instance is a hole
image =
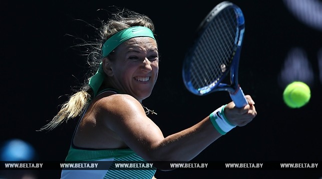
[[[311,97],[309,86],[301,81],[289,83],[283,92],[283,99],[287,106],[299,108],[305,105]]]

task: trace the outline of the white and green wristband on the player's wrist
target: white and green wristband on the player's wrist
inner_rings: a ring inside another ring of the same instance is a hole
[[[222,135],[226,134],[229,130],[233,129],[236,126],[231,124],[226,119],[226,116],[224,114],[225,106],[226,105],[223,105],[217,108],[209,115],[211,123],[216,128],[216,130]]]

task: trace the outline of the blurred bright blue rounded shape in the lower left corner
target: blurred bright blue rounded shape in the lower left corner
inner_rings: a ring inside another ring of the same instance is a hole
[[[10,139],[1,148],[2,161],[30,161],[34,158],[34,147],[22,139]]]

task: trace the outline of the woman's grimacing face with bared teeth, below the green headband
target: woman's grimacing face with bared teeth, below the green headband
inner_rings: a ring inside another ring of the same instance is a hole
[[[142,102],[150,96],[158,77],[156,41],[151,37],[134,37],[120,44],[114,53],[113,87]]]

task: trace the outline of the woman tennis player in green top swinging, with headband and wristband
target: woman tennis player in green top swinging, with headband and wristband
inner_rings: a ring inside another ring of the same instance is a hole
[[[142,105],[152,92],[159,70],[153,22],[146,15],[122,9],[102,23],[101,39],[93,48],[97,50],[88,58],[94,73],[42,128],[51,130],[79,117],[66,161],[189,161],[217,138],[256,116],[254,101],[246,95],[246,106],[237,108],[233,102],[214,106],[217,109],[206,113],[200,122],[165,137],[147,116],[155,112]],[[166,119],[176,120],[171,116]],[[111,167],[63,169],[61,177],[153,178],[158,165],[148,170]]]

